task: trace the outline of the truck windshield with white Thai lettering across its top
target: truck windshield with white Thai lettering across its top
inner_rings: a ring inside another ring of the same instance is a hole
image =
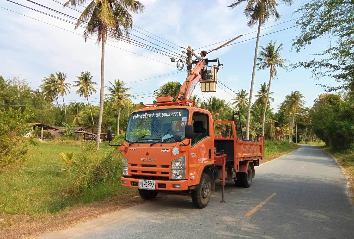
[[[173,135],[184,137],[184,126],[188,122],[187,109],[145,110],[132,113],[127,126],[127,142],[152,143],[166,139],[164,143],[175,142]]]

